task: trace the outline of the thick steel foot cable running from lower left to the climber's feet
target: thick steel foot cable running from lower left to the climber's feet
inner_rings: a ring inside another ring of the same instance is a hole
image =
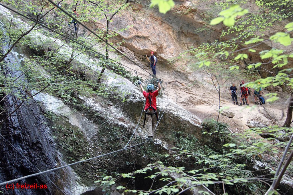
[[[116,151],[113,151],[113,152],[109,152],[109,153],[106,153],[106,154],[103,154],[103,155],[99,155],[99,156],[96,156],[96,157],[92,157],[92,158],[89,158],[89,159],[86,159],[86,160],[81,160],[81,161],[73,162],[71,164],[64,165],[64,166],[61,166],[61,167],[56,167],[56,168],[49,169],[49,170],[46,170],[46,171],[42,171],[42,172],[39,172],[39,173],[30,174],[30,175],[27,175],[27,176],[24,176],[24,177],[20,177],[20,178],[17,178],[17,179],[12,179],[12,180],[9,180],[9,181],[6,181],[6,182],[2,182],[2,183],[0,183],[0,186],[5,185],[5,184],[9,184],[9,183],[12,183],[12,182],[16,182],[16,181],[21,180],[21,179],[26,179],[28,177],[34,177],[34,176],[37,176],[37,175],[40,175],[40,174],[44,174],[44,173],[47,173],[47,172],[51,172],[51,171],[55,171],[55,170],[58,170],[58,169],[62,169],[64,167],[69,167],[69,166],[76,165],[76,164],[79,164],[79,163],[82,163],[82,162],[90,161],[90,160],[93,160],[93,159],[96,159],[96,158],[100,158],[100,157],[103,157],[103,156],[107,156],[107,155],[110,155],[110,154],[114,154],[114,153],[117,153],[117,152],[121,152],[123,150],[127,150],[129,148],[132,148],[132,147],[135,147],[135,146],[138,146],[138,145],[142,145],[142,144],[144,144],[146,142],[148,142],[148,141],[144,141],[144,142],[141,142],[141,143],[138,143],[138,144],[129,146],[129,147],[122,148],[120,150],[116,150]]]

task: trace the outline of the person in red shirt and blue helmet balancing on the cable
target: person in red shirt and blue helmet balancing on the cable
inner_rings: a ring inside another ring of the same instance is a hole
[[[144,115],[144,123],[147,121],[147,134],[148,138],[147,140],[151,140],[155,133],[155,127],[156,127],[156,122],[155,122],[155,116],[158,121],[158,114],[157,114],[157,104],[156,104],[156,96],[159,95],[159,91],[162,89],[160,80],[157,80],[158,83],[158,90],[155,90],[155,87],[153,84],[148,84],[147,85],[147,92],[144,91],[144,88],[142,88],[142,84],[139,81],[139,87],[142,90],[142,94],[146,99],[146,106],[144,107],[144,111],[146,112]],[[154,91],[155,90],[155,91]]]

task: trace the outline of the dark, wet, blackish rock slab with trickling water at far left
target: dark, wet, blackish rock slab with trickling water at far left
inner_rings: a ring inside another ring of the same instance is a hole
[[[7,48],[4,48],[4,50]],[[13,51],[12,51],[13,52]],[[20,77],[23,84],[27,83],[25,76],[20,76],[20,61],[17,58],[18,53],[13,52],[5,59],[6,76]],[[7,94],[4,105],[6,115],[13,113],[17,106],[21,105],[21,101],[17,99],[20,90],[14,89],[14,93]],[[40,114],[40,109],[32,100],[25,102],[26,106],[20,108],[9,117],[5,123],[0,126],[0,181],[4,182],[10,179],[23,177],[29,174],[40,172],[54,168],[57,164],[55,161],[55,150],[53,139],[50,136],[50,129],[45,124],[45,118]],[[1,119],[3,116],[1,116]],[[47,189],[32,189],[27,194],[55,194],[50,179],[57,179],[53,173],[45,176],[31,177],[18,181],[16,183],[46,184]],[[23,182],[23,183],[22,183]],[[15,184],[16,184],[15,183]],[[62,188],[62,186],[60,185]],[[8,190],[7,194],[24,194],[23,189]]]

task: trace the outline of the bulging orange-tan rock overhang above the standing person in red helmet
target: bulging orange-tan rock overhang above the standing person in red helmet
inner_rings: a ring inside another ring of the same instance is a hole
[[[197,1],[177,1],[175,8],[166,14],[142,5],[148,5],[149,1],[130,4],[131,7],[121,11],[119,16],[114,16],[110,23],[110,30],[118,33],[118,37],[114,37],[112,41],[123,40],[122,46],[130,49],[139,58],[154,51],[160,64],[166,64],[169,59],[190,46],[197,47],[202,43],[213,42],[219,38],[222,30],[220,25],[212,27],[214,33],[198,30],[207,24],[203,14],[207,7],[199,6],[199,9],[195,9]],[[105,23],[105,19],[101,19],[89,25],[105,29]],[[118,32],[127,26],[127,30]]]

